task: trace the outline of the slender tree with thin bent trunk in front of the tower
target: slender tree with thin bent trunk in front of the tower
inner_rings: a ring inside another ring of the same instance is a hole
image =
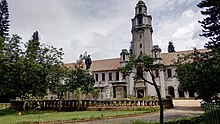
[[[162,102],[162,98],[160,95],[160,89],[158,88],[156,81],[155,81],[156,76],[154,74],[154,71],[157,69],[160,69],[162,65],[155,64],[155,62],[156,62],[155,58],[152,58],[147,55],[141,55],[138,57],[131,56],[129,62],[124,67],[120,67],[119,71],[123,73],[124,75],[130,75],[130,73],[132,73],[133,71],[133,68],[135,67],[137,68],[137,73],[134,79],[135,80],[142,79],[144,80],[145,83],[148,83],[154,86],[157,92],[157,96],[158,96],[159,104],[160,104],[160,124],[163,124],[163,102]],[[143,72],[147,72],[150,74],[151,81],[147,80],[144,77]]]

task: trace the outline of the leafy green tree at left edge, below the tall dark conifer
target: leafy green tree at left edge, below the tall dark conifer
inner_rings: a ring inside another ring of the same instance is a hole
[[[1,58],[0,64],[0,97],[1,100],[15,98],[20,82],[20,71],[22,63],[21,38],[18,35],[13,35],[8,38],[5,43],[4,55]]]

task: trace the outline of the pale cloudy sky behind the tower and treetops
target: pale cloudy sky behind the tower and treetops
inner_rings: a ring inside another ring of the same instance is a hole
[[[64,62],[87,51],[92,60],[120,57],[132,40],[131,19],[139,0],[8,0],[10,34],[27,42],[38,31],[40,42],[63,48]],[[167,52],[203,48],[200,0],[143,0],[153,20],[153,44]]]

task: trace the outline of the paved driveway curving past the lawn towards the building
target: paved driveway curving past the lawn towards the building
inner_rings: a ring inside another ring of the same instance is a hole
[[[203,113],[203,111],[200,108],[200,101],[201,100],[174,100],[173,102],[175,108],[165,110],[164,112],[165,120],[193,116]],[[127,124],[137,120],[159,121],[159,113],[144,114],[140,116],[126,117],[126,118],[75,122],[74,124]]]

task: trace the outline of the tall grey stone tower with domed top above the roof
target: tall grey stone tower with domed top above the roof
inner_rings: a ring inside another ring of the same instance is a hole
[[[136,56],[151,55],[152,43],[152,17],[147,14],[147,6],[142,0],[136,4],[135,16],[132,21],[132,42],[130,52]]]

